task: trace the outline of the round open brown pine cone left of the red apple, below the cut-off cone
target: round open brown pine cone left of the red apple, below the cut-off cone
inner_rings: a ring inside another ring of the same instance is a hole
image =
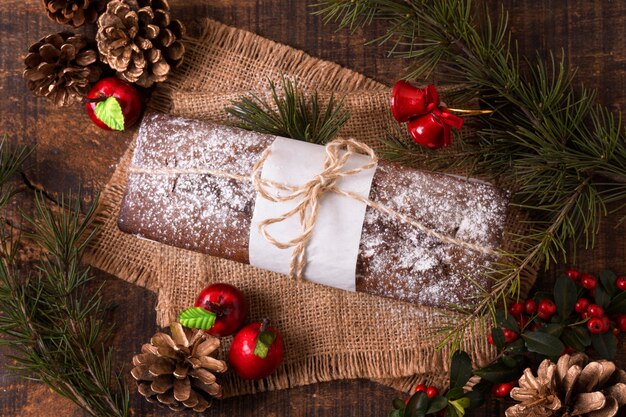
[[[28,48],[23,76],[36,96],[67,106],[86,96],[91,83],[100,78],[97,60],[85,36],[55,33]]]

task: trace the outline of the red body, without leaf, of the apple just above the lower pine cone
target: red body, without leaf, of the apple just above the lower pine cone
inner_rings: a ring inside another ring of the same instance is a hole
[[[215,323],[207,333],[224,337],[235,333],[248,317],[248,302],[236,287],[225,284],[211,284],[203,289],[194,307],[202,307],[216,314]]]

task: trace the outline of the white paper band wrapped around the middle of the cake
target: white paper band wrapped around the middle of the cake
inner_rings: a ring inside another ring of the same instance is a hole
[[[301,186],[323,170],[325,148],[292,139],[277,138],[271,145],[271,154],[263,165],[261,178],[289,186]],[[358,168],[370,160],[365,155],[352,155],[345,170]],[[375,168],[364,170],[337,181],[337,187],[369,197]],[[280,191],[275,191],[280,195]],[[258,193],[252,215],[249,255],[250,265],[282,274],[289,273],[293,248],[279,249],[259,233],[259,224],[269,218],[280,217],[292,209],[298,200],[270,202]],[[366,205],[352,198],[332,192],[320,199],[320,209],[313,236],[306,247],[304,277],[319,284],[354,291],[356,261]],[[268,231],[279,241],[289,241],[302,232],[298,216],[272,224]]]

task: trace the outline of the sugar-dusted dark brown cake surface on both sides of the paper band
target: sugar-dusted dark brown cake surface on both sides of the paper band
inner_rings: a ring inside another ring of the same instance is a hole
[[[138,236],[248,263],[256,191],[249,181],[192,173],[249,176],[274,137],[175,118],[144,117],[119,227]],[[142,170],[182,170],[155,175]],[[179,171],[180,172],[180,171]],[[370,199],[451,238],[496,249],[508,198],[489,184],[380,162]],[[493,257],[429,237],[368,207],[356,265],[357,291],[423,305],[468,304],[489,287],[481,270]]]

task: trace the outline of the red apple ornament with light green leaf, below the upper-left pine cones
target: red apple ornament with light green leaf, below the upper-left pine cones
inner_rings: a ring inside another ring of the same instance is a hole
[[[124,130],[141,115],[141,98],[135,88],[115,77],[98,81],[85,99],[87,114],[104,130]]]

